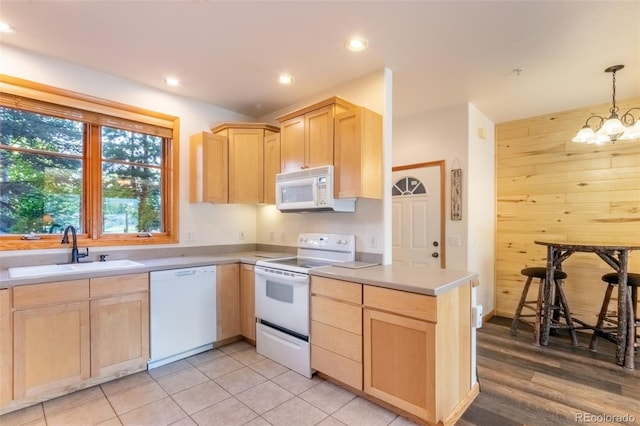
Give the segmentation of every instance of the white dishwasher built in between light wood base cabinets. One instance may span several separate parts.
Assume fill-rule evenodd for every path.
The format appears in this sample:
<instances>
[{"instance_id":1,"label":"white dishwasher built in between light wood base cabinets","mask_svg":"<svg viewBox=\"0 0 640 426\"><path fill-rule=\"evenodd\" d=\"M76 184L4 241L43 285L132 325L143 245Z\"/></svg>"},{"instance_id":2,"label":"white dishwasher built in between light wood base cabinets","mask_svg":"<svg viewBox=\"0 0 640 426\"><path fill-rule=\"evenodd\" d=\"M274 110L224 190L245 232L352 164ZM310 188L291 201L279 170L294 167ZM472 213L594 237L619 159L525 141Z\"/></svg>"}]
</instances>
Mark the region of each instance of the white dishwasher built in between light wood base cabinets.
<instances>
[{"instance_id":1,"label":"white dishwasher built in between light wood base cabinets","mask_svg":"<svg viewBox=\"0 0 640 426\"><path fill-rule=\"evenodd\" d=\"M150 273L151 359L147 368L204 352L216 340L216 267Z\"/></svg>"}]
</instances>

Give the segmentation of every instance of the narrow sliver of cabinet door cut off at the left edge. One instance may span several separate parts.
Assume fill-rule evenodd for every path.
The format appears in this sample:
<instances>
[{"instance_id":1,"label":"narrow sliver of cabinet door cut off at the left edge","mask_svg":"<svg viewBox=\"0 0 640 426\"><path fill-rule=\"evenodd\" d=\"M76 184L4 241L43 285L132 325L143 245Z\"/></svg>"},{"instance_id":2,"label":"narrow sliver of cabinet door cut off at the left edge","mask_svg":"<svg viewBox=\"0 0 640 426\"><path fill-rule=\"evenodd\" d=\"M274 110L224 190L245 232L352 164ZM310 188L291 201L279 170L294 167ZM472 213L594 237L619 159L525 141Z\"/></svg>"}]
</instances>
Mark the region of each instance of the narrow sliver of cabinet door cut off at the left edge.
<instances>
[{"instance_id":1,"label":"narrow sliver of cabinet door cut off at the left edge","mask_svg":"<svg viewBox=\"0 0 640 426\"><path fill-rule=\"evenodd\" d=\"M13 399L13 322L10 294L10 289L0 289L0 408Z\"/></svg>"}]
</instances>

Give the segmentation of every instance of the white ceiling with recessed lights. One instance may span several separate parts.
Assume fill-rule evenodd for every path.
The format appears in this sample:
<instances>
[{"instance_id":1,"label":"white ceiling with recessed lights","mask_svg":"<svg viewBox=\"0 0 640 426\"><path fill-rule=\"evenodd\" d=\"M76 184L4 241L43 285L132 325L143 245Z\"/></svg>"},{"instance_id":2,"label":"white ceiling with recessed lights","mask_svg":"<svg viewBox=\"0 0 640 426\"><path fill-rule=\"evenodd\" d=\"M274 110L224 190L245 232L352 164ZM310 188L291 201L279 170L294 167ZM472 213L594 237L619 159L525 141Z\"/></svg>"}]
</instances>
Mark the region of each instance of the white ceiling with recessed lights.
<instances>
[{"instance_id":1,"label":"white ceiling with recessed lights","mask_svg":"<svg viewBox=\"0 0 640 426\"><path fill-rule=\"evenodd\" d=\"M0 20L16 29L2 44L254 117L384 67L395 117L472 102L500 123L606 103L614 64L617 98L640 96L640 1L2 0ZM367 51L345 49L354 35Z\"/></svg>"}]
</instances>

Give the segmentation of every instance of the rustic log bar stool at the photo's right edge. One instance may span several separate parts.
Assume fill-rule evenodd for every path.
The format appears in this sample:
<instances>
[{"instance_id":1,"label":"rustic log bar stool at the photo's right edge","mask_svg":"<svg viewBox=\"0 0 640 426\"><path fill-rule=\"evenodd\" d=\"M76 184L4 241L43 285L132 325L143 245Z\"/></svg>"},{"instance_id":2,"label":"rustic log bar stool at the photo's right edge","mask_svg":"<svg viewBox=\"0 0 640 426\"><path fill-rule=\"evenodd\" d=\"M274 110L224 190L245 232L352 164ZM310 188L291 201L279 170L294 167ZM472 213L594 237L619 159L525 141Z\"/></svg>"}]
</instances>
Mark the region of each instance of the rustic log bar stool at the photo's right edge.
<instances>
[{"instance_id":1,"label":"rustic log bar stool at the photo's right edge","mask_svg":"<svg viewBox=\"0 0 640 426\"><path fill-rule=\"evenodd\" d=\"M598 337L602 337L610 342L617 343L617 331L618 331L618 313L616 311L609 311L609 302L611 301L611 293L613 289L618 285L618 273L611 272L602 276L602 281L607 283L607 290L604 293L604 300L602 302L602 308L600 308L600 314L598 315L598 322L593 329L593 336L591 336L591 342L589 343L589 350L597 351ZM638 328L640 327L640 318L637 312L638 306L638 287L640 287L640 274L627 273L627 290L631 291L631 301L634 312L634 325L635 333L633 344L638 346Z\"/></svg>"}]
</instances>

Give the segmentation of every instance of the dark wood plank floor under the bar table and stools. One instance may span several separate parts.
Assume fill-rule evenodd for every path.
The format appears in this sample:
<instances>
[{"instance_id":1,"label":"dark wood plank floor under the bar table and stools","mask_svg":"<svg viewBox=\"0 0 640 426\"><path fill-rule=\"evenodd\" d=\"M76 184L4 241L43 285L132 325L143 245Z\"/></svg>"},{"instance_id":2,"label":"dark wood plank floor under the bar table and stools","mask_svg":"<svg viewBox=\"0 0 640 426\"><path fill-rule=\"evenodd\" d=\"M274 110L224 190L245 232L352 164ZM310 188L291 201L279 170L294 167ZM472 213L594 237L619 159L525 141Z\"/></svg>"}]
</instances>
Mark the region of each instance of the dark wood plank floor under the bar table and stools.
<instances>
[{"instance_id":1,"label":"dark wood plank floor under the bar table and stools","mask_svg":"<svg viewBox=\"0 0 640 426\"><path fill-rule=\"evenodd\" d=\"M458 425L640 424L637 353L636 370L623 369L613 343L601 339L599 352L589 351L590 334L579 333L579 348L565 334L536 347L530 327L514 336L510 325L494 318L478 330L480 395Z\"/></svg>"}]
</instances>

